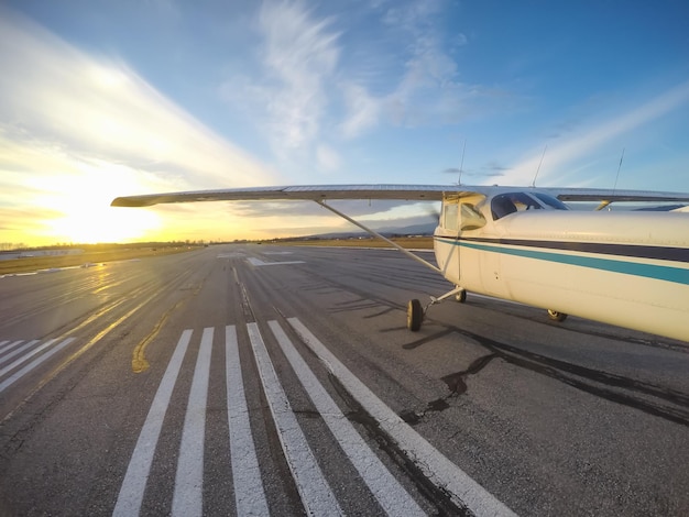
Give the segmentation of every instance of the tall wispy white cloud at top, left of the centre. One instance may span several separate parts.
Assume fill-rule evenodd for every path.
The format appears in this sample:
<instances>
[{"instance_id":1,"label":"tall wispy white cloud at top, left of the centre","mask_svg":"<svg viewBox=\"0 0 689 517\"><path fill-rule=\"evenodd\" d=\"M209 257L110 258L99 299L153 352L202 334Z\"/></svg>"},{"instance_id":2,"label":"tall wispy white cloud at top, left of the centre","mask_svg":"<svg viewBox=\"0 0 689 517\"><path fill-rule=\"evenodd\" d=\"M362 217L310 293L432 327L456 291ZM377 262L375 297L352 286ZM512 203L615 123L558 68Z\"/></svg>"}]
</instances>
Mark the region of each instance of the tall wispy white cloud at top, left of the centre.
<instances>
[{"instance_id":1,"label":"tall wispy white cloud at top, left of the centre","mask_svg":"<svg viewBox=\"0 0 689 517\"><path fill-rule=\"evenodd\" d=\"M264 2L256 31L259 75L233 75L221 91L237 106L250 103L274 153L286 160L309 151L319 136L328 81L340 54L339 33L332 20L318 19L304 2L292 1Z\"/></svg>"}]
</instances>

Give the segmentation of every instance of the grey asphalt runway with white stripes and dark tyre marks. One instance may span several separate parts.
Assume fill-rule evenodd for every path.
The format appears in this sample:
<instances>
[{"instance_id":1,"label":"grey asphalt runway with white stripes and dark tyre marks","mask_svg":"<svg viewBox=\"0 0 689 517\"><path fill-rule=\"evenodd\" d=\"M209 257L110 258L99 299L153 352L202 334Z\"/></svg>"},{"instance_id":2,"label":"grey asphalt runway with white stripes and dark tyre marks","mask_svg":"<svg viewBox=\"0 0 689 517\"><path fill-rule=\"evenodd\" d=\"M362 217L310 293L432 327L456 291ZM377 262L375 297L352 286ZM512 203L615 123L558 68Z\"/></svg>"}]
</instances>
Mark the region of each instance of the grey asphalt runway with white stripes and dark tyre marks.
<instances>
[{"instance_id":1,"label":"grey asphalt runway with white stripes and dark tyre marks","mask_svg":"<svg viewBox=\"0 0 689 517\"><path fill-rule=\"evenodd\" d=\"M424 253L426 258L431 253ZM687 515L689 344L390 250L0 278L0 515Z\"/></svg>"}]
</instances>

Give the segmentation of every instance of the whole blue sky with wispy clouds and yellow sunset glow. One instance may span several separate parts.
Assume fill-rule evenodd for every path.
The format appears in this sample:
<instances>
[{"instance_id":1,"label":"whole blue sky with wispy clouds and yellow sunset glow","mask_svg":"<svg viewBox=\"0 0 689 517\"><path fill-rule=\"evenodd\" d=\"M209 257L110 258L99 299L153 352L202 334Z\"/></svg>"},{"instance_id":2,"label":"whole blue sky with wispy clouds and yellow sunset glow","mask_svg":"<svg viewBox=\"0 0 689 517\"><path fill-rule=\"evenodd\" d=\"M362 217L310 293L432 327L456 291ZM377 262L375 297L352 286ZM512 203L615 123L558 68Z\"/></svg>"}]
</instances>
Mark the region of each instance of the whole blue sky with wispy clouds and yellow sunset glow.
<instances>
[{"instance_id":1,"label":"whole blue sky with wispy clouds and yellow sunset glow","mask_svg":"<svg viewBox=\"0 0 689 517\"><path fill-rule=\"evenodd\" d=\"M686 0L3 0L0 249L351 228L315 204L109 206L160 191L538 172L687 193L687 20Z\"/></svg>"}]
</instances>

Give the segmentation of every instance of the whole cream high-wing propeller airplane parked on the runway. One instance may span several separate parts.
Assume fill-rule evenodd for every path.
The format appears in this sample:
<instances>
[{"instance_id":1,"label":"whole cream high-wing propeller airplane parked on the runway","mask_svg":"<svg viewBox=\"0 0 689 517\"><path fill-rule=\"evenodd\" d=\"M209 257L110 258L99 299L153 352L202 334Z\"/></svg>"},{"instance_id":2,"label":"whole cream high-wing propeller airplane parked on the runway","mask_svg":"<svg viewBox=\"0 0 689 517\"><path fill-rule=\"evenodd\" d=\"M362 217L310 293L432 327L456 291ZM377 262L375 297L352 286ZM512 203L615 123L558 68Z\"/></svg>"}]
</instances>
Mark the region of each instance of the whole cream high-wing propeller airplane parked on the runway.
<instances>
[{"instance_id":1,"label":"whole cream high-wing propeller airplane parked on the runway","mask_svg":"<svg viewBox=\"0 0 689 517\"><path fill-rule=\"evenodd\" d=\"M407 305L419 330L428 308L467 292L689 341L689 215L609 211L611 202L688 202L689 194L580 188L332 185L227 188L118 197L114 207L220 200L310 200L383 239L455 288ZM442 201L434 248L438 266L337 210L337 199ZM564 201L599 201L570 210Z\"/></svg>"}]
</instances>

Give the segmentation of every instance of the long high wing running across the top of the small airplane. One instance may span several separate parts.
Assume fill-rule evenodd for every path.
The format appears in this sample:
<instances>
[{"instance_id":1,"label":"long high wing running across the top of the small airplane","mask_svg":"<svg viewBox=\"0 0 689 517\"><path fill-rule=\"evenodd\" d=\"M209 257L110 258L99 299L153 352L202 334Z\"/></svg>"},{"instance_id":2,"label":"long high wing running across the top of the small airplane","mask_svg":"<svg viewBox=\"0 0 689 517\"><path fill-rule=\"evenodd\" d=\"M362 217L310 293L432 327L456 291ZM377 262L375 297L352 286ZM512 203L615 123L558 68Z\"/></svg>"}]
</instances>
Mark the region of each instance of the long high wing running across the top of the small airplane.
<instances>
[{"instance_id":1,"label":"long high wing running across the top of the small airplane","mask_svg":"<svg viewBox=\"0 0 689 517\"><path fill-rule=\"evenodd\" d=\"M330 199L397 199L408 201L439 201L446 194L453 196L537 190L550 194L561 201L672 201L689 202L686 193L654 193L644 190L613 190L599 188L534 188L503 186L457 185L296 185L282 187L242 187L218 190L195 190L167 194L124 196L112 200L113 207L150 207L168 202L239 201L239 200L311 200Z\"/></svg>"}]
</instances>

